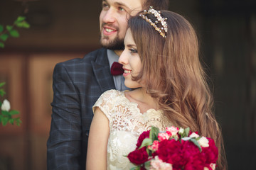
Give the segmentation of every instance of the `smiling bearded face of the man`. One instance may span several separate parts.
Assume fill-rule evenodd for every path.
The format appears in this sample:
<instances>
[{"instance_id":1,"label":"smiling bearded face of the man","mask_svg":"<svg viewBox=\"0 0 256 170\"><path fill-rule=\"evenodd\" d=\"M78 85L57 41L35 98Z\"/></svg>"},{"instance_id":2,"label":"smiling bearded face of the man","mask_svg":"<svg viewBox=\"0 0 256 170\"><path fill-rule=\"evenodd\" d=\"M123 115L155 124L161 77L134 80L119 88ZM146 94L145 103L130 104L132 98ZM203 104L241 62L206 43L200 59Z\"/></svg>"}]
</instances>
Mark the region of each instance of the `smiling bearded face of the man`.
<instances>
[{"instance_id":1,"label":"smiling bearded face of the man","mask_svg":"<svg viewBox=\"0 0 256 170\"><path fill-rule=\"evenodd\" d=\"M141 10L142 0L103 0L100 13L100 44L110 50L124 50L129 16Z\"/></svg>"}]
</instances>

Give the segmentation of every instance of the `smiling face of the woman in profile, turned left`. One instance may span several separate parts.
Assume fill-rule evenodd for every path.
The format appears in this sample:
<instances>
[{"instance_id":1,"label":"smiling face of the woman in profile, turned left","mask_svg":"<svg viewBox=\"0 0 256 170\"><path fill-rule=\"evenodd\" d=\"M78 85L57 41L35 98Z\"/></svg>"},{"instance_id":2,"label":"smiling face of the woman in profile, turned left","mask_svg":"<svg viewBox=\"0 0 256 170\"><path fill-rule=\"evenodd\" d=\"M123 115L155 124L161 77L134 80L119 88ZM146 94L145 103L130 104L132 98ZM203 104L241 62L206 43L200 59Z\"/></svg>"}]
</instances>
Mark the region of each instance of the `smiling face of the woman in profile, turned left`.
<instances>
[{"instance_id":1,"label":"smiling face of the woman in profile, turned left","mask_svg":"<svg viewBox=\"0 0 256 170\"><path fill-rule=\"evenodd\" d=\"M127 30L125 35L124 51L122 52L122 55L120 55L118 62L123 65L125 86L132 89L141 87L141 84L132 80L132 77L136 77L142 69L142 61L138 55L137 45L132 38L132 32L130 29Z\"/></svg>"}]
</instances>

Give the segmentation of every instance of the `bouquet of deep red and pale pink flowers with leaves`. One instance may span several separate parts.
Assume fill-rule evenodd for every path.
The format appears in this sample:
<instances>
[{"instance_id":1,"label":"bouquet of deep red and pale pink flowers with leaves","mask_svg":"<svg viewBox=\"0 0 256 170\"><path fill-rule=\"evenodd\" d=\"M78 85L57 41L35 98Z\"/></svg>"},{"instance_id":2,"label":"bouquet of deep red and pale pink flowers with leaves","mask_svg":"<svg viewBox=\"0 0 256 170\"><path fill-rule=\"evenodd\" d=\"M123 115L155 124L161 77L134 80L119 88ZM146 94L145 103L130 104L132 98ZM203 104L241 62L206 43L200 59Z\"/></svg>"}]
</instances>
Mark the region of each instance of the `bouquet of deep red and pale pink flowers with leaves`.
<instances>
[{"instance_id":1,"label":"bouquet of deep red and pale pink flowers with leaves","mask_svg":"<svg viewBox=\"0 0 256 170\"><path fill-rule=\"evenodd\" d=\"M218 148L213 139L199 136L189 128L152 127L139 136L137 148L128 154L136 167L131 170L214 170Z\"/></svg>"}]
</instances>

